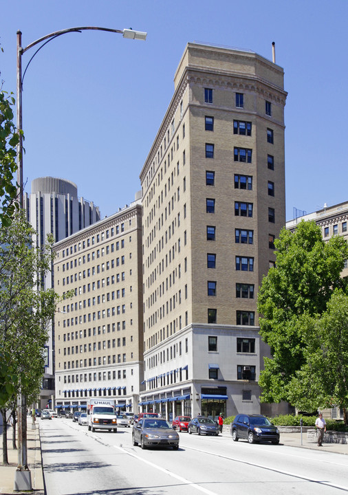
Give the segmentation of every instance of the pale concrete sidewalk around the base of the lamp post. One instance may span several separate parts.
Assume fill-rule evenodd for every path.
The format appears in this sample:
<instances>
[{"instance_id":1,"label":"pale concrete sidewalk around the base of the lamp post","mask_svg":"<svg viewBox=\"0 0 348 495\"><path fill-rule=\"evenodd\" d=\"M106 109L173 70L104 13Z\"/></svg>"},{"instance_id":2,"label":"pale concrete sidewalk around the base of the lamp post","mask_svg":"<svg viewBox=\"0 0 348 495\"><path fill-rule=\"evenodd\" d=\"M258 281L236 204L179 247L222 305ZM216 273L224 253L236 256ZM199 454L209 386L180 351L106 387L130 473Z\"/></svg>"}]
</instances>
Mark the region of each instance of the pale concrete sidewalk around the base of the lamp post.
<instances>
[{"instance_id":1,"label":"pale concrete sidewalk around the base of the lamp post","mask_svg":"<svg viewBox=\"0 0 348 495\"><path fill-rule=\"evenodd\" d=\"M3 465L2 441L0 442L0 494L28 494L44 495L43 470L41 465L41 445L39 435L39 425L32 430L32 424L28 420L27 442L28 442L28 466L32 476L32 492L14 492L14 474L18 463L18 450L12 448L12 428L8 428L8 465ZM18 442L17 442L18 447Z\"/></svg>"}]
</instances>

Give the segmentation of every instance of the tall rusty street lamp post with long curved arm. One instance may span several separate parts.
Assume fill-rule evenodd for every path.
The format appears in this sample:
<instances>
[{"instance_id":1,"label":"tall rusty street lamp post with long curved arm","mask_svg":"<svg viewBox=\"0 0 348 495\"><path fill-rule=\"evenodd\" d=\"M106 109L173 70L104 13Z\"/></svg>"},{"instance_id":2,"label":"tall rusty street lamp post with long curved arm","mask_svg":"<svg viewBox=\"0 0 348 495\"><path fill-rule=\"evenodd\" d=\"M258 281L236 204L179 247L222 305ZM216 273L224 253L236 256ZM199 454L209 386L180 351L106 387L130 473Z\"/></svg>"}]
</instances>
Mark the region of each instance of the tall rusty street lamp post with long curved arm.
<instances>
[{"instance_id":1,"label":"tall rusty street lamp post with long curved arm","mask_svg":"<svg viewBox=\"0 0 348 495\"><path fill-rule=\"evenodd\" d=\"M22 33L17 31L17 131L22 130L22 91L23 91L23 78L25 72L30 65L30 62L34 56L45 46L49 41L61 36L62 34L67 34L69 32L82 32L86 30L95 31L107 31L112 33L122 34L124 38L127 39L137 39L146 40L146 32L135 31L132 29L115 30L109 28L98 28L94 26L83 26L80 28L68 28L66 30L56 31L51 34L47 34L42 38L33 41L30 45L22 47ZM30 50L30 48L42 43L41 46L36 50L27 66L25 67L24 74L22 76L22 55ZM19 143L17 144L17 195L19 201L19 207L23 208L23 139L21 133L19 133ZM14 490L31 490L32 480L30 470L28 468L28 457L27 457L27 406L26 397L20 391L18 399L18 465L16 474L14 477Z\"/></svg>"}]
</instances>

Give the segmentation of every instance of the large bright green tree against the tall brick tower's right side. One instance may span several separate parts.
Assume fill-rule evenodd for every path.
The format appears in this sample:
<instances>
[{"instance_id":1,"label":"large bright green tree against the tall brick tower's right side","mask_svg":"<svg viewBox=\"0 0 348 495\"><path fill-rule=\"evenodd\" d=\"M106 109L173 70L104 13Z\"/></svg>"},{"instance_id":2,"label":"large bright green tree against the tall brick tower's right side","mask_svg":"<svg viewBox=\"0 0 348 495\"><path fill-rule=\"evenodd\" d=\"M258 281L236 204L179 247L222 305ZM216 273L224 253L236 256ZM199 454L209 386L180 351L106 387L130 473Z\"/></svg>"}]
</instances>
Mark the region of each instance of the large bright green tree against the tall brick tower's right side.
<instances>
[{"instance_id":1,"label":"large bright green tree against the tall brick tower's right side","mask_svg":"<svg viewBox=\"0 0 348 495\"><path fill-rule=\"evenodd\" d=\"M294 233L283 228L274 245L276 266L263 277L258 298L260 333L272 353L260 373L264 402L289 401L289 384L306 362L303 319L322 314L334 289L347 293L342 237L325 242L314 221L301 221Z\"/></svg>"}]
</instances>

